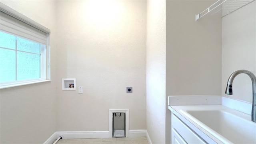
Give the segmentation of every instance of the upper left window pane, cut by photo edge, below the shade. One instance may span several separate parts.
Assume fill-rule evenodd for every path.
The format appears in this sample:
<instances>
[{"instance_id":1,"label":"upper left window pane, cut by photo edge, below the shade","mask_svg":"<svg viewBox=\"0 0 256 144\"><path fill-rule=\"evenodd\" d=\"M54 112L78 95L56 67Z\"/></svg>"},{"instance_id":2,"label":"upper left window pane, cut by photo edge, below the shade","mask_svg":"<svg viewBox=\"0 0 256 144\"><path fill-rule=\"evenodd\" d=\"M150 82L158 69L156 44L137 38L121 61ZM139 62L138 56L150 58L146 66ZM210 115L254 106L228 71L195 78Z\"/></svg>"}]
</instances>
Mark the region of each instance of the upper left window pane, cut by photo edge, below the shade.
<instances>
[{"instance_id":1,"label":"upper left window pane, cut by photo edge, below the shade","mask_svg":"<svg viewBox=\"0 0 256 144\"><path fill-rule=\"evenodd\" d=\"M15 36L0 32L0 47L15 50Z\"/></svg>"}]
</instances>

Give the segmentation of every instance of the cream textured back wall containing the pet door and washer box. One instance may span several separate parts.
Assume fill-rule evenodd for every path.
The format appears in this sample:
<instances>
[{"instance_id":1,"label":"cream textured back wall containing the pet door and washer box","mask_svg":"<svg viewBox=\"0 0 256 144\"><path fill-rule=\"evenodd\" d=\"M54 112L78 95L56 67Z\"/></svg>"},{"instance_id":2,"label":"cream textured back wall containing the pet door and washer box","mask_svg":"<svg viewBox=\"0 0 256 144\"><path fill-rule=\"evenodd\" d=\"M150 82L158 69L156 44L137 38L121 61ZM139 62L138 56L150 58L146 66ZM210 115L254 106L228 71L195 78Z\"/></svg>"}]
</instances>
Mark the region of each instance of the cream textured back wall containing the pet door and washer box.
<instances>
[{"instance_id":1,"label":"cream textured back wall containing the pet door and washer box","mask_svg":"<svg viewBox=\"0 0 256 144\"><path fill-rule=\"evenodd\" d=\"M108 130L108 110L120 108L130 109L130 130L146 129L146 1L61 0L56 12L57 130ZM84 93L62 91L61 78Z\"/></svg>"}]
</instances>

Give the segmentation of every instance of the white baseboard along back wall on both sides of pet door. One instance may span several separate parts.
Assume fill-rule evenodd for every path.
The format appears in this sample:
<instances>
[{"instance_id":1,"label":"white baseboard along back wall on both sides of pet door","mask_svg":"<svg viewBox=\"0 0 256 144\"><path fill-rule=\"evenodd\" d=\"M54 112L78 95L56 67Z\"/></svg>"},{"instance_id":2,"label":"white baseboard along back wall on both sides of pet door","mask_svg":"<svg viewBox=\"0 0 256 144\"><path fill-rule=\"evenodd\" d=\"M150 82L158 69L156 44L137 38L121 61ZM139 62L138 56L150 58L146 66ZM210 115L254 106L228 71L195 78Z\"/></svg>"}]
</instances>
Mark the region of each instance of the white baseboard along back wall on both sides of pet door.
<instances>
[{"instance_id":1,"label":"white baseboard along back wall on both sides of pet door","mask_svg":"<svg viewBox=\"0 0 256 144\"><path fill-rule=\"evenodd\" d=\"M144 137L147 136L146 130L129 130L129 137ZM64 131L55 132L44 142L44 144L52 144L59 136L63 139L80 139L80 138L109 138L109 131Z\"/></svg>"}]
</instances>

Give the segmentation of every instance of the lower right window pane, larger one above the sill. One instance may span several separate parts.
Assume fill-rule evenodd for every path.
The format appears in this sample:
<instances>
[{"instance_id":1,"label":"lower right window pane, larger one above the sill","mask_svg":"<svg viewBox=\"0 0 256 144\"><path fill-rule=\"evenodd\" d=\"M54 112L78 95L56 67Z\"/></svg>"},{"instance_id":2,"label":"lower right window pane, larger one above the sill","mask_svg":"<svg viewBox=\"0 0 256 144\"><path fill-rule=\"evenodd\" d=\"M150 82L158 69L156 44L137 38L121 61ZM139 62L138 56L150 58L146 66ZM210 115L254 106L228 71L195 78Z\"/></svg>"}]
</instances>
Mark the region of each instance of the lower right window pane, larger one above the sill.
<instances>
[{"instance_id":1,"label":"lower right window pane, larger one above the sill","mask_svg":"<svg viewBox=\"0 0 256 144\"><path fill-rule=\"evenodd\" d=\"M17 80L40 78L40 55L17 52Z\"/></svg>"}]
</instances>

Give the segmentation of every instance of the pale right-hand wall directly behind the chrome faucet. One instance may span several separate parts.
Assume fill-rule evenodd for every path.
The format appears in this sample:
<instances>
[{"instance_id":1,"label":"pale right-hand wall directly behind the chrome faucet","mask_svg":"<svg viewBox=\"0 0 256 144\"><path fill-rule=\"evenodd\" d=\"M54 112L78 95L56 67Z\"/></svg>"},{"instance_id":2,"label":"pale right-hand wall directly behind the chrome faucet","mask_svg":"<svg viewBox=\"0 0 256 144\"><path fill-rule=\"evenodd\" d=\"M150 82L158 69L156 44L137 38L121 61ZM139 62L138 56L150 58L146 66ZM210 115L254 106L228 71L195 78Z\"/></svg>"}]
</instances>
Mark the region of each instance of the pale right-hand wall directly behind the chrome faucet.
<instances>
[{"instance_id":1,"label":"pale right-hand wall directly behind the chrome faucet","mask_svg":"<svg viewBox=\"0 0 256 144\"><path fill-rule=\"evenodd\" d=\"M222 96L252 103L252 81L239 74L233 95L225 94L228 77L236 70L256 74L256 2L222 18Z\"/></svg>"}]
</instances>

